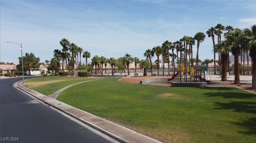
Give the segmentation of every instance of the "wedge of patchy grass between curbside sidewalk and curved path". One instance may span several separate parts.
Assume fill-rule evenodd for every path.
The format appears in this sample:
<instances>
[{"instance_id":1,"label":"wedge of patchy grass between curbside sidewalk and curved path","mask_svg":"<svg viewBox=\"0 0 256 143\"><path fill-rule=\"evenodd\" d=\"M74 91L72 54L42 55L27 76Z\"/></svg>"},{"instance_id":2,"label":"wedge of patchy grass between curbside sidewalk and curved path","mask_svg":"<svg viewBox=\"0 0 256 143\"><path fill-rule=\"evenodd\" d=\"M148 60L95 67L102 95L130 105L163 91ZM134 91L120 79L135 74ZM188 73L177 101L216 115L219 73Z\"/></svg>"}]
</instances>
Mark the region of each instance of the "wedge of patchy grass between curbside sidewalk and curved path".
<instances>
[{"instance_id":1,"label":"wedge of patchy grass between curbside sidewalk and curved path","mask_svg":"<svg viewBox=\"0 0 256 143\"><path fill-rule=\"evenodd\" d=\"M29 83L30 89L36 90L44 95L50 95L57 90L64 88L68 85L93 80L98 78L92 77L66 77L66 76L46 76L40 78L32 78L26 81L25 86Z\"/></svg>"}]
</instances>

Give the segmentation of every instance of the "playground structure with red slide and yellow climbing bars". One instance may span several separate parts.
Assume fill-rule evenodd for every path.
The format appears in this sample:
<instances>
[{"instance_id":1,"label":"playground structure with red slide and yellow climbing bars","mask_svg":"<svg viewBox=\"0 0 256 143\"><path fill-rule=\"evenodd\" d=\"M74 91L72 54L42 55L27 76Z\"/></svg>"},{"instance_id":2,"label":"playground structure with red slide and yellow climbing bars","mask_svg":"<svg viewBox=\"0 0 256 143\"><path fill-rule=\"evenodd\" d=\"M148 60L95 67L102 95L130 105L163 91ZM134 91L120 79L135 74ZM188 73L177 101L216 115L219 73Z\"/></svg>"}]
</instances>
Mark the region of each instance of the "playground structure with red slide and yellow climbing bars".
<instances>
[{"instance_id":1,"label":"playground structure with red slide and yellow climbing bars","mask_svg":"<svg viewBox=\"0 0 256 143\"><path fill-rule=\"evenodd\" d=\"M180 82L210 82L209 80L206 80L205 78L205 72L202 77L202 71L201 69L197 69L196 66L191 67L190 65L187 66L187 64L179 64L178 71L176 74L174 74L171 78L168 79L168 81L173 80L176 76L180 75ZM182 75L184 75L184 79L182 78ZM189 81L188 81L188 75L189 75ZM183 81L182 81L183 80Z\"/></svg>"}]
</instances>

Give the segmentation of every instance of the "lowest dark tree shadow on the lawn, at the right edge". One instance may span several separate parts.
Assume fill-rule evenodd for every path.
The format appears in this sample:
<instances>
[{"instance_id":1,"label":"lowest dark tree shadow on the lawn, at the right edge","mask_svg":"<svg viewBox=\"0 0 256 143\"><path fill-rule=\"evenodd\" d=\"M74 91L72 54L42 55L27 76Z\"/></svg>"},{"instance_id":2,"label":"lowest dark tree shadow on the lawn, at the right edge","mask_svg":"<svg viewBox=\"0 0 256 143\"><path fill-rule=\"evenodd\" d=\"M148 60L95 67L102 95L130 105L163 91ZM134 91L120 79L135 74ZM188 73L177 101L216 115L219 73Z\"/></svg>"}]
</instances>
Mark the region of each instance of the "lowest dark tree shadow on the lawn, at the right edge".
<instances>
[{"instance_id":1,"label":"lowest dark tree shadow on the lawn, at the right edge","mask_svg":"<svg viewBox=\"0 0 256 143\"><path fill-rule=\"evenodd\" d=\"M245 135L256 135L256 118L248 118L242 123L232 122L234 125L245 127L248 131L241 131Z\"/></svg>"}]
</instances>

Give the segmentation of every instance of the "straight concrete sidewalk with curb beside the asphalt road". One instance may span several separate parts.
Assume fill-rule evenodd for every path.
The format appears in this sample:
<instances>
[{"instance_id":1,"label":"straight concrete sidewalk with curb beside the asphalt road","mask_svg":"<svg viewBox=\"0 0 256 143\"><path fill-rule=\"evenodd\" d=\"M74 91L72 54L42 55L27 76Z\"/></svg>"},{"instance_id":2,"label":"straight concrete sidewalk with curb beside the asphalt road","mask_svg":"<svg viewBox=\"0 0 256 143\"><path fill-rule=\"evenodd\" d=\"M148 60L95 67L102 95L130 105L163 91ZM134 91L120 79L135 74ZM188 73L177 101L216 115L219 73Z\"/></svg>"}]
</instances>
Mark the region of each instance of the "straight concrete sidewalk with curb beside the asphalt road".
<instances>
[{"instance_id":1,"label":"straight concrete sidewalk with curb beside the asphalt road","mask_svg":"<svg viewBox=\"0 0 256 143\"><path fill-rule=\"evenodd\" d=\"M49 106L52 106L68 114L69 116L72 116L73 118L82 121L90 127L101 131L102 133L112 137L113 139L116 139L117 141L120 141L122 143L161 143L160 141L147 137L146 135L142 135L136 131L132 131L131 129L108 121L106 119L94 116L88 112L82 111L78 108L75 108L53 98L45 96L39 92L26 88L21 83L22 81L15 82L13 86L22 90L23 92L34 96L38 100L43 101Z\"/></svg>"}]
</instances>

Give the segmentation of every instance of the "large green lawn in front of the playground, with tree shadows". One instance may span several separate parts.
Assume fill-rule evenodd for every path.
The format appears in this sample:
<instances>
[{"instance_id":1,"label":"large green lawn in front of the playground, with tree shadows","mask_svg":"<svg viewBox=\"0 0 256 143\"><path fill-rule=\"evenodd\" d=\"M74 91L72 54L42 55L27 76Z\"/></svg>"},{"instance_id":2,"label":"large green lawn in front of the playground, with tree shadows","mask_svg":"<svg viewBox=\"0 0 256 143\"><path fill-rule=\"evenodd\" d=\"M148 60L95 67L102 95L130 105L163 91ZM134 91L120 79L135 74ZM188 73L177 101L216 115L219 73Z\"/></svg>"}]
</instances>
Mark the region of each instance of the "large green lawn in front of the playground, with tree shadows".
<instances>
[{"instance_id":1,"label":"large green lawn in front of the playground, with tree shadows","mask_svg":"<svg viewBox=\"0 0 256 143\"><path fill-rule=\"evenodd\" d=\"M164 142L256 141L256 94L232 87L154 87L118 79L72 86L57 100Z\"/></svg>"}]
</instances>

